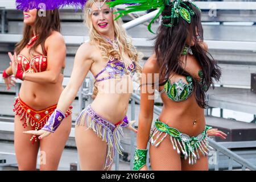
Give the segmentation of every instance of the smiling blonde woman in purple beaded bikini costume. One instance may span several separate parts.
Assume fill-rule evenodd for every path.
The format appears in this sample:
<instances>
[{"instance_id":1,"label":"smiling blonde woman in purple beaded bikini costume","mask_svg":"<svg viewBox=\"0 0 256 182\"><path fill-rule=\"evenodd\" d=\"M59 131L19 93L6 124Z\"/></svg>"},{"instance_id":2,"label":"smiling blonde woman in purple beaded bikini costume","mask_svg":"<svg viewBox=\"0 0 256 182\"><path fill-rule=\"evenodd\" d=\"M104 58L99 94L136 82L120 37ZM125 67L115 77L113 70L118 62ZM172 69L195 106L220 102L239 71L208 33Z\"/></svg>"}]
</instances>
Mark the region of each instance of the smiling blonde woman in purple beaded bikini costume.
<instances>
[{"instance_id":1,"label":"smiling blonde woman in purple beaded bikini costume","mask_svg":"<svg viewBox=\"0 0 256 182\"><path fill-rule=\"evenodd\" d=\"M136 132L126 113L133 92L132 77L141 72L140 56L122 28L122 20L114 21L116 10L106 2L110 1L86 2L85 22L90 40L76 53L71 80L61 93L57 109L42 130L32 132L39 138L53 133L65 118L63 111L72 104L82 81L92 72L94 101L82 110L75 128L82 170L109 169L115 153L122 154L122 128Z\"/></svg>"}]
</instances>

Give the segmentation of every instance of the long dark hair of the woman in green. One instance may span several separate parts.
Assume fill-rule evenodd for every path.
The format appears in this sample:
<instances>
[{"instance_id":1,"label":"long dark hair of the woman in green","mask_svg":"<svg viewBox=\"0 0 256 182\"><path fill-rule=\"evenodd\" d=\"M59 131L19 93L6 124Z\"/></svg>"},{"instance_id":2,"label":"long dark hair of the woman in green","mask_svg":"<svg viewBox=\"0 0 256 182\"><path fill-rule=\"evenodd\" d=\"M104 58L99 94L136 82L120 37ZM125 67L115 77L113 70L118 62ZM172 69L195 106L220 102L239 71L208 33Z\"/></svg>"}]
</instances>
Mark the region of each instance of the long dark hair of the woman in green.
<instances>
[{"instance_id":1,"label":"long dark hair of the woman in green","mask_svg":"<svg viewBox=\"0 0 256 182\"><path fill-rule=\"evenodd\" d=\"M215 80L220 80L221 71L218 67L216 61L213 57L205 51L200 46L200 42L203 42L203 27L201 24L201 12L195 6L191 5L189 2L184 2L187 6L189 6L193 11L195 11L195 15L191 16L191 23L186 22L181 16L179 17L179 21L176 21L176 25L172 27L163 26L163 24L158 29L158 35L155 40L155 53L157 57L157 64L160 69L160 79L159 85L162 86L166 84L170 76L173 76L175 73L177 75L183 76L191 76L187 71L185 71L181 67L181 52L185 47L185 43L187 38L192 41L193 38L196 38L196 28L197 32L200 36L200 40L195 41L195 46L192 46L192 52L198 61L199 65L203 69L203 85L193 78L193 86L195 90L195 97L197 104L205 108L207 107L205 92L208 90L210 85L213 85L213 78ZM181 4L181 6L184 6ZM163 16L171 16L171 6L166 6L163 10ZM186 8L186 7L184 7ZM170 23L170 19L163 19L164 24ZM194 39L195 40L195 39ZM187 61L187 58L186 58ZM205 89L206 88L206 89Z\"/></svg>"}]
</instances>

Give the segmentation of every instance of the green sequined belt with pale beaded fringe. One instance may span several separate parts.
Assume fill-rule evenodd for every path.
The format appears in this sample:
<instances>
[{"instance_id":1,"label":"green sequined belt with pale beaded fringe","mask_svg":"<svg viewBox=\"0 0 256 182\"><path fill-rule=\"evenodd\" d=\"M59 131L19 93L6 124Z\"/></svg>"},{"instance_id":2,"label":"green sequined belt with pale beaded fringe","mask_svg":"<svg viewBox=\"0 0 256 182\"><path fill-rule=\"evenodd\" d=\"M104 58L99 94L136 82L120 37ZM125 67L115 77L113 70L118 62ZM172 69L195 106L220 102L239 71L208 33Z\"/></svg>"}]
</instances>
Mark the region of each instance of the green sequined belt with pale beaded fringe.
<instances>
[{"instance_id":1,"label":"green sequined belt with pale beaded fringe","mask_svg":"<svg viewBox=\"0 0 256 182\"><path fill-rule=\"evenodd\" d=\"M156 119L155 125L151 129L150 142L152 146L158 147L163 139L166 138L167 135L170 135L174 150L177 150L178 154L181 154L181 150L182 154L184 155L184 159L187 160L188 158L188 163L193 165L196 164L197 159L200 159L199 151L204 156L207 156L209 149L213 149L209 146L207 139L207 130L209 129L211 129L211 127L206 126L203 133L197 135L197 137L189 137L187 134L180 133L179 130L170 127ZM162 138L160 138L161 136Z\"/></svg>"}]
</instances>

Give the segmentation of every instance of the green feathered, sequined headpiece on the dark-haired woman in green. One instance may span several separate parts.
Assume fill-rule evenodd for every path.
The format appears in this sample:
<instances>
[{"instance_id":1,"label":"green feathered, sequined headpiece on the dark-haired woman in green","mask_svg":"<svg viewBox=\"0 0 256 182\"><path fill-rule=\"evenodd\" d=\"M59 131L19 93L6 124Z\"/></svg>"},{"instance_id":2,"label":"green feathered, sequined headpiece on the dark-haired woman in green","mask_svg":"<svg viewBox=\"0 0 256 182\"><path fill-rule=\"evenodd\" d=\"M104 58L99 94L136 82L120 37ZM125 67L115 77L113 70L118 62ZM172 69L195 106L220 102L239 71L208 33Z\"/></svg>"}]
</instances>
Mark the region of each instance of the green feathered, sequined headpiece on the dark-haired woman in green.
<instances>
[{"instance_id":1,"label":"green feathered, sequined headpiece on the dark-haired woman in green","mask_svg":"<svg viewBox=\"0 0 256 182\"><path fill-rule=\"evenodd\" d=\"M179 17L181 16L188 23L191 22L191 16L195 15L195 11L193 11L189 6L187 6L184 2L189 2L193 6L197 7L191 0L115 0L112 2L108 2L107 4L110 7L114 7L117 5L127 5L126 10L120 10L115 13L119 13L116 19L125 16L126 14L137 12L137 11L147 11L151 9L159 9L156 16L151 20L150 24L148 24L148 30L154 34L151 30L151 24L158 18L158 16L162 13L166 6L171 6L171 15L163 16L162 19L170 19L170 23L163 24L163 26L172 27L175 26L175 22L179 22ZM200 9L199 9L200 10Z\"/></svg>"}]
</instances>

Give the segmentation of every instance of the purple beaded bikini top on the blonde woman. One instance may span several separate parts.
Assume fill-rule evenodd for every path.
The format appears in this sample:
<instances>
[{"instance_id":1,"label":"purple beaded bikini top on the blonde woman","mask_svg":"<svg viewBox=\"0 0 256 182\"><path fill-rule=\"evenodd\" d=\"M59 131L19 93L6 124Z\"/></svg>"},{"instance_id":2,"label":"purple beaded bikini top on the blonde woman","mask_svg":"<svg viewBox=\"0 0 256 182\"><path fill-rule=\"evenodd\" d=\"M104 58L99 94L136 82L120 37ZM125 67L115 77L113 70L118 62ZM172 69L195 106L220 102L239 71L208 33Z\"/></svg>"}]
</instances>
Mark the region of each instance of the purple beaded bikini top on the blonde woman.
<instances>
[{"instance_id":1,"label":"purple beaded bikini top on the blonde woman","mask_svg":"<svg viewBox=\"0 0 256 182\"><path fill-rule=\"evenodd\" d=\"M97 77L100 76L101 73L103 73L104 71L107 71L109 73L109 76L105 78L100 78L97 80ZM114 57L109 57L108 64L104 69L102 69L102 71L100 71L100 73L96 75L95 80L96 82L99 82L99 81L108 80L111 78L121 78L123 75L129 74L128 71L131 73L131 76L134 75L135 73L134 61L129 65L128 68L126 68L125 63L117 59L114 59Z\"/></svg>"}]
</instances>

